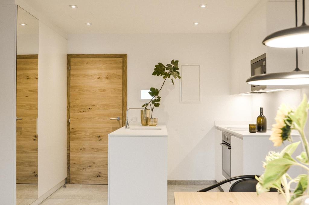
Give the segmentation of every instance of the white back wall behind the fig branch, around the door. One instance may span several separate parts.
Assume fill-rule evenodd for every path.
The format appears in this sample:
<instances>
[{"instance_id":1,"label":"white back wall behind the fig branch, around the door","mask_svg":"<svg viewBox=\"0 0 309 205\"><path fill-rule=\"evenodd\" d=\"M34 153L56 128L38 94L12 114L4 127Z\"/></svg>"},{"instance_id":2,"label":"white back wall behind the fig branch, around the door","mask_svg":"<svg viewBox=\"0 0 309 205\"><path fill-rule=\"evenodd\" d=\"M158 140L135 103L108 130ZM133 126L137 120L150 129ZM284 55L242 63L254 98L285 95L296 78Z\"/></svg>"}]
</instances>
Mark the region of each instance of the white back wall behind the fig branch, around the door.
<instances>
[{"instance_id":1,"label":"white back wall behind the fig branch, around the door","mask_svg":"<svg viewBox=\"0 0 309 205\"><path fill-rule=\"evenodd\" d=\"M151 75L158 62L201 66L200 104L181 104L179 80L175 87L168 81L154 111L169 133L169 180L213 180L214 121L251 119L251 97L229 96L229 34L71 34L68 53L127 53L128 108L145 103L141 89L163 82ZM139 115L131 111L129 118Z\"/></svg>"}]
</instances>

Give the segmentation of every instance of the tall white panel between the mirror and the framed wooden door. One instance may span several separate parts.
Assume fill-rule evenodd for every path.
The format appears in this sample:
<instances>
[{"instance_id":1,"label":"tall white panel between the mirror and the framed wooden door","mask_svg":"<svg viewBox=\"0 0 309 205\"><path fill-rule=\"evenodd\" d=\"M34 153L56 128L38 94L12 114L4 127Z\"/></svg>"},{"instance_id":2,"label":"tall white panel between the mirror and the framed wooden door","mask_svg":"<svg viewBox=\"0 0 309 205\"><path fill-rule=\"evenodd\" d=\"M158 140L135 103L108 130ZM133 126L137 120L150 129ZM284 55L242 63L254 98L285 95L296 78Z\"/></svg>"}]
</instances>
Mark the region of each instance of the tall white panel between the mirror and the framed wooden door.
<instances>
[{"instance_id":1,"label":"tall white panel between the mirror and the framed wooden door","mask_svg":"<svg viewBox=\"0 0 309 205\"><path fill-rule=\"evenodd\" d=\"M66 178L67 41L39 22L39 197Z\"/></svg>"}]
</instances>

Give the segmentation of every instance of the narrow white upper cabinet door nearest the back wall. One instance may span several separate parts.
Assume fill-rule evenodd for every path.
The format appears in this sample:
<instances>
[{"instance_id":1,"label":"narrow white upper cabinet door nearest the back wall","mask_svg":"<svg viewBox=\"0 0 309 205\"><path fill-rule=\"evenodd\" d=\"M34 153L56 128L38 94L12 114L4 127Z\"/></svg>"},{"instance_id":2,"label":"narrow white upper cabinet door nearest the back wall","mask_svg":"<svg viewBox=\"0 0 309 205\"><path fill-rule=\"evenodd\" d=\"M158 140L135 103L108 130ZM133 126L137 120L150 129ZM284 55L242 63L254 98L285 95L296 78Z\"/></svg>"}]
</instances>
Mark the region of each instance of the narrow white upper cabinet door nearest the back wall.
<instances>
[{"instance_id":1,"label":"narrow white upper cabinet door nearest the back wall","mask_svg":"<svg viewBox=\"0 0 309 205\"><path fill-rule=\"evenodd\" d=\"M239 42L238 28L230 33L230 94L239 93Z\"/></svg>"}]
</instances>

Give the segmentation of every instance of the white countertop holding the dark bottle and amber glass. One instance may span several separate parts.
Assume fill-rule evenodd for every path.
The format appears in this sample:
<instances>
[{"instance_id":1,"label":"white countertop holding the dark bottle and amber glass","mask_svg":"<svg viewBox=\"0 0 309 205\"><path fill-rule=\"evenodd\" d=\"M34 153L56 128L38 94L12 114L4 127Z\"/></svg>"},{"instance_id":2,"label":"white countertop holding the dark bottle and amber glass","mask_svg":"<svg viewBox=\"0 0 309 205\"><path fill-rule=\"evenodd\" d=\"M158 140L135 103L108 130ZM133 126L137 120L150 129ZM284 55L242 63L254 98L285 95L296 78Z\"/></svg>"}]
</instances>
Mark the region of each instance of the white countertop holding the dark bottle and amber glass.
<instances>
[{"instance_id":1,"label":"white countertop holding the dark bottle and amber glass","mask_svg":"<svg viewBox=\"0 0 309 205\"><path fill-rule=\"evenodd\" d=\"M238 131L238 130L231 130L228 129L227 127L243 127L247 128L247 131ZM270 135L273 133L272 130L267 130L267 132L256 132L256 133L250 133L249 132L249 125L215 125L215 128L217 130L221 130L223 132L227 132L233 136L236 137L270 137ZM299 137L300 135L297 134L296 132L292 132L291 134L292 137Z\"/></svg>"}]
</instances>

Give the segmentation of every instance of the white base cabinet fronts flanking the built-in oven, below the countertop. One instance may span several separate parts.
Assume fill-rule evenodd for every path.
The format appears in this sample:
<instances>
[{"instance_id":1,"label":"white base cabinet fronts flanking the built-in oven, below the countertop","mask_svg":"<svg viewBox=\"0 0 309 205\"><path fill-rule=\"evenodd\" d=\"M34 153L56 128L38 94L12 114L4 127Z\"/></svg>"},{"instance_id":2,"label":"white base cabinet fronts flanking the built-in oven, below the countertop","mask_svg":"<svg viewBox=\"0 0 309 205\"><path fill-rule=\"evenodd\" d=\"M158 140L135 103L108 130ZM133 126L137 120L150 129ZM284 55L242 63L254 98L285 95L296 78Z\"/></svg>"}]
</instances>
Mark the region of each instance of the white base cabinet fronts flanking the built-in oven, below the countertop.
<instances>
[{"instance_id":1,"label":"white base cabinet fronts flanking the built-in oven, below the countertop","mask_svg":"<svg viewBox=\"0 0 309 205\"><path fill-rule=\"evenodd\" d=\"M294 142L300 141L300 137L293 137ZM215 131L215 180L220 182L225 179L222 175L222 131ZM265 171L263 161L269 151L280 152L284 147L274 147L269 137L239 137L231 136L231 177L239 175L262 175ZM293 157L295 158L302 152L299 146ZM291 177L297 177L301 173L305 173L299 167L292 167L288 173ZM221 188L228 192L231 183L226 183Z\"/></svg>"}]
</instances>

